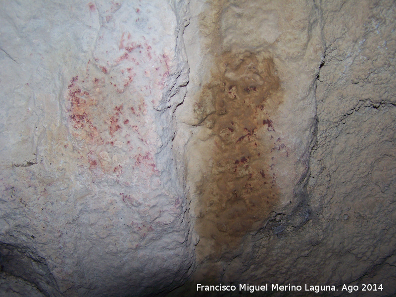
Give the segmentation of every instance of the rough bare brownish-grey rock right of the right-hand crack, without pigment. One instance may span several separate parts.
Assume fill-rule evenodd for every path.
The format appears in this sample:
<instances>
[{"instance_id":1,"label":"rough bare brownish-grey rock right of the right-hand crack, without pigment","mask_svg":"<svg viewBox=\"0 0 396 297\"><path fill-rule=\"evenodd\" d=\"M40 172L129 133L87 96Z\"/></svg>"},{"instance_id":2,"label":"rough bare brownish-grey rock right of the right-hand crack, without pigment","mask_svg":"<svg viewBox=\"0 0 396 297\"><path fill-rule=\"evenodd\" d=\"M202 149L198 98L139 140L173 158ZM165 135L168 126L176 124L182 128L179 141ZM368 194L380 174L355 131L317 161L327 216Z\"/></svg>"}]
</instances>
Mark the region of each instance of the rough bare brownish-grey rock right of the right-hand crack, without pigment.
<instances>
[{"instance_id":1,"label":"rough bare brownish-grey rock right of the right-hand crack, without pigment","mask_svg":"<svg viewBox=\"0 0 396 297\"><path fill-rule=\"evenodd\" d=\"M324 2L322 11L326 51L308 183L317 241L309 258L321 265L323 281L387 287L354 296L391 296L396 294L396 6L334 1Z\"/></svg>"}]
</instances>

